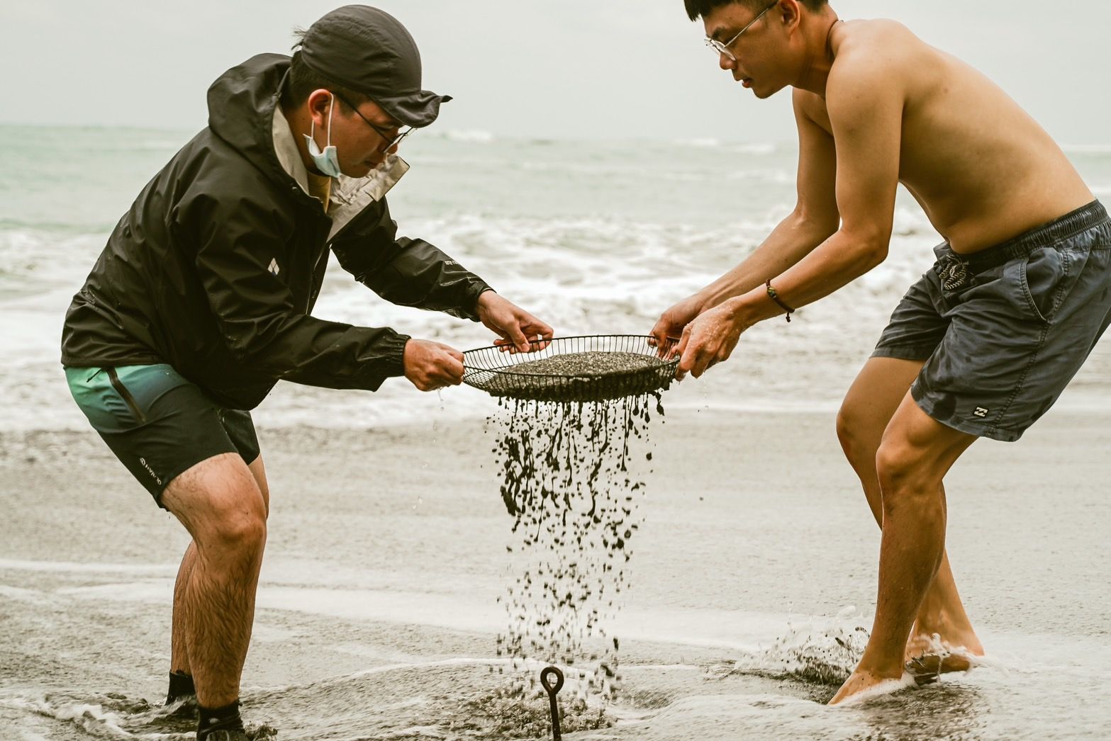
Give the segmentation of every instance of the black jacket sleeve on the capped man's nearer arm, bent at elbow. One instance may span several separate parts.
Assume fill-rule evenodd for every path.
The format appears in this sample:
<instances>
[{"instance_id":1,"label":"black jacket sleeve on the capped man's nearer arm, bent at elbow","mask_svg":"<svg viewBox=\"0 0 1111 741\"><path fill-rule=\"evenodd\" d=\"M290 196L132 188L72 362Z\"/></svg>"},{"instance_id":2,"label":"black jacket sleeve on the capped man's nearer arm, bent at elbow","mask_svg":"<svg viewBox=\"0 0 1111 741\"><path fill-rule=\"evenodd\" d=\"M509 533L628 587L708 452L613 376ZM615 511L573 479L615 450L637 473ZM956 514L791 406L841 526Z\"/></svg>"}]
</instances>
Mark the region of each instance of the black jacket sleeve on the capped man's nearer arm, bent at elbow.
<instances>
[{"instance_id":1,"label":"black jacket sleeve on the capped man's nearer arm, bent at elbow","mask_svg":"<svg viewBox=\"0 0 1111 741\"><path fill-rule=\"evenodd\" d=\"M293 305L288 286L268 270L290 248L292 226L280 209L240 195L199 196L190 211L197 272L237 359L276 378L328 388L377 390L404 373L407 335L318 319Z\"/></svg>"}]
</instances>

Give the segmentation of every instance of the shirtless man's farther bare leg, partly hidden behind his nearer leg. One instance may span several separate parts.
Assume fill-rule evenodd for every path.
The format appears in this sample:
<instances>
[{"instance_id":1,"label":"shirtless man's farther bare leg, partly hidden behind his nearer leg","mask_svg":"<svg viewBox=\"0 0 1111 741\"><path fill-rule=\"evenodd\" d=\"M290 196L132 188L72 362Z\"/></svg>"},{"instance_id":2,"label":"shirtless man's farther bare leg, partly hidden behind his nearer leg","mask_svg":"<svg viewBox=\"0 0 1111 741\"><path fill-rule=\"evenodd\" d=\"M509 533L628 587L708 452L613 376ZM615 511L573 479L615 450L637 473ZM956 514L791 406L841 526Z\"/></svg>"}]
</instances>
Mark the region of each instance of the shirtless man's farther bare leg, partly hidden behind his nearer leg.
<instances>
[{"instance_id":1,"label":"shirtless man's farther bare leg, partly hidden behind his nearer leg","mask_svg":"<svg viewBox=\"0 0 1111 741\"><path fill-rule=\"evenodd\" d=\"M853 382L838 415L838 437L860 478L877 524L881 524L883 519L883 498L875 470L875 455L883 430L921 367L921 361L885 357L870 359ZM944 506L944 488L941 489L941 496ZM944 552L938 573L922 600L904 659L910 661L924 657L927 667L938 671L963 671L969 668L968 660L959 656L944 659L925 657L937 640L949 648L963 648L973 654L983 653L983 647L961 603L949 557Z\"/></svg>"}]
</instances>

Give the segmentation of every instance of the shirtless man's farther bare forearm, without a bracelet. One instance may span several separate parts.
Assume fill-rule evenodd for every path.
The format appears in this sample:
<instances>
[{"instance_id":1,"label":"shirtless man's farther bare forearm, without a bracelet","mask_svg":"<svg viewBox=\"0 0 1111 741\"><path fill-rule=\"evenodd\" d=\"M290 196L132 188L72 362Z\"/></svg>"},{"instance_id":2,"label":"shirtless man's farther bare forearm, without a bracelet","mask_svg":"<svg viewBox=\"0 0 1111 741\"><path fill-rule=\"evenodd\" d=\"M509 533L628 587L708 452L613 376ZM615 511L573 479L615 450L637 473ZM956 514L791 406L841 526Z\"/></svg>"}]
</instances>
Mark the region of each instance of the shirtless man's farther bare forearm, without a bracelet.
<instances>
[{"instance_id":1,"label":"shirtless man's farther bare forearm, without a bracelet","mask_svg":"<svg viewBox=\"0 0 1111 741\"><path fill-rule=\"evenodd\" d=\"M702 311L764 285L765 281L799 263L829 235L827 227L808 220L798 211L792 212L740 265L698 293Z\"/></svg>"}]
</instances>

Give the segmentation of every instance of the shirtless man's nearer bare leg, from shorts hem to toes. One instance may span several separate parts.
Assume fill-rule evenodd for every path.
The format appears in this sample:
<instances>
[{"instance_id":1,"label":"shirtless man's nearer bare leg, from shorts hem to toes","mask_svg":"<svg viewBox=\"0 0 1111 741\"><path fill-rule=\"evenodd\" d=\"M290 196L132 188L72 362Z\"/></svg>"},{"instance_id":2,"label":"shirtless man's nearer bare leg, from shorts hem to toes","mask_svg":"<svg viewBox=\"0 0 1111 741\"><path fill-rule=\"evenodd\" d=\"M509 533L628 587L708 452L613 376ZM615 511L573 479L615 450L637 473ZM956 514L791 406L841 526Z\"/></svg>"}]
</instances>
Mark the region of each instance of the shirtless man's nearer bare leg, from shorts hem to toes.
<instances>
[{"instance_id":1,"label":"shirtless man's nearer bare leg, from shorts hem to toes","mask_svg":"<svg viewBox=\"0 0 1111 741\"><path fill-rule=\"evenodd\" d=\"M877 455L883 537L875 621L860 664L831 704L902 677L914 617L944 552L941 479L975 439L930 418L909 393L891 418Z\"/></svg>"}]
</instances>

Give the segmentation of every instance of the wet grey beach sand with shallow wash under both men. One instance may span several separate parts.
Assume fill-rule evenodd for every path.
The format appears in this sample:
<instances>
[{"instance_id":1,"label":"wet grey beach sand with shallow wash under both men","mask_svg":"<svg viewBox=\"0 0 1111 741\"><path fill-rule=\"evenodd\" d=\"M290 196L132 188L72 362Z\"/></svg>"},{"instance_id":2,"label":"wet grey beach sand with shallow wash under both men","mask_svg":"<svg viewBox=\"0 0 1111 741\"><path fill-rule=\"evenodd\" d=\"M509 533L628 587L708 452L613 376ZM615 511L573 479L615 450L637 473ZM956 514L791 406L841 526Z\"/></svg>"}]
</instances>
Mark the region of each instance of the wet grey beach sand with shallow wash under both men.
<instances>
[{"instance_id":1,"label":"wet grey beach sand with shallow wash under both men","mask_svg":"<svg viewBox=\"0 0 1111 741\"><path fill-rule=\"evenodd\" d=\"M588 708L564 738L1105 738L1109 423L1051 413L947 479L984 666L829 709L871 625L879 551L832 413L669 410L612 628L612 724L567 732ZM258 737L547 738L541 712L508 720L496 697L512 575L493 432L259 434L272 511L243 674ZM184 531L91 432L0 433L0 738L190 738L141 702L166 691Z\"/></svg>"}]
</instances>

